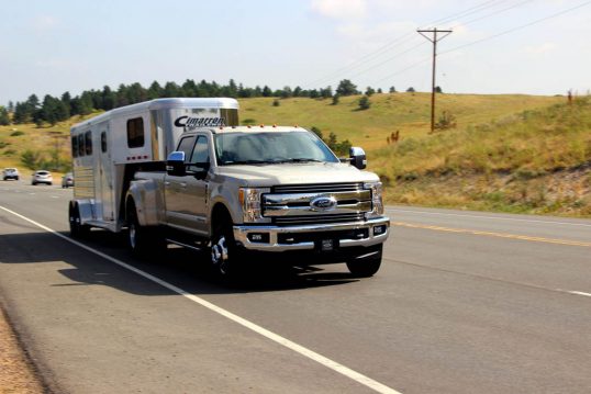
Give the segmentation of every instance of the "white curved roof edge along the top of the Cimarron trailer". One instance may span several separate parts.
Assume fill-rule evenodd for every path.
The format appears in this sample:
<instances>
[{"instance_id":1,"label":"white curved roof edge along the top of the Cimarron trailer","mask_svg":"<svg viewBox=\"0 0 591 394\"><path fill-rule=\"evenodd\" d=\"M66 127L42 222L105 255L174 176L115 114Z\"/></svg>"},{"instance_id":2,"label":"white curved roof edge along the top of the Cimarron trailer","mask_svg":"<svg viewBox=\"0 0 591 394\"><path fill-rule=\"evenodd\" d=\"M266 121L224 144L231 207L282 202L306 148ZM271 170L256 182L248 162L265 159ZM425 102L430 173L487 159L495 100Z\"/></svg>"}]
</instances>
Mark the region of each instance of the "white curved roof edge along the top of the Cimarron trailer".
<instances>
[{"instance_id":1,"label":"white curved roof edge along the top of the Cimarron trailer","mask_svg":"<svg viewBox=\"0 0 591 394\"><path fill-rule=\"evenodd\" d=\"M169 99L155 99L150 101L144 101L137 104L120 106L111 111L107 111L98 116L93 116L85 122L77 123L73 126L79 127L83 125L91 125L101 121L108 120L116 115L125 115L131 113L137 113L142 111L152 110L166 110L176 108L222 108L222 109L238 109L238 101L230 98L169 98Z\"/></svg>"}]
</instances>

